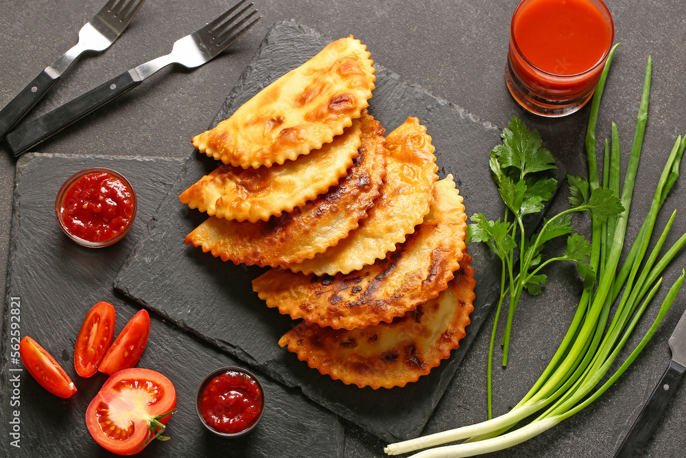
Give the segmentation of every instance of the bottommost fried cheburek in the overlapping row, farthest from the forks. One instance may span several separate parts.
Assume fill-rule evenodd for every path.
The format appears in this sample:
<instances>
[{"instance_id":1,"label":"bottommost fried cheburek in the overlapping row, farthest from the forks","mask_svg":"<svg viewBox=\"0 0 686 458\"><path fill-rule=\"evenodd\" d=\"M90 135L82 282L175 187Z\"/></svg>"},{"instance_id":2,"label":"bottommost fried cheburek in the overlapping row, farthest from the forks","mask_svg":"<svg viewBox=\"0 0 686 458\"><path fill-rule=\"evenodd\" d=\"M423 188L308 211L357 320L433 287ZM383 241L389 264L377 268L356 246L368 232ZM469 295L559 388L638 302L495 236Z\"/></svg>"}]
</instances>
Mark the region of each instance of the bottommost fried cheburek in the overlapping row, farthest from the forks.
<instances>
[{"instance_id":1,"label":"bottommost fried cheburek in the overlapping row, farthest from the forks","mask_svg":"<svg viewBox=\"0 0 686 458\"><path fill-rule=\"evenodd\" d=\"M404 387L429 374L460 346L474 310L474 269L464 254L460 270L437 299L364 329L334 330L303 321L279 345L334 380L358 387Z\"/></svg>"}]
</instances>

